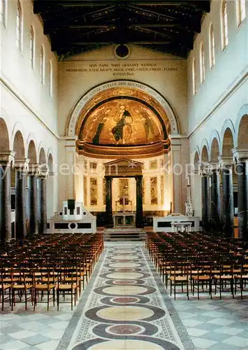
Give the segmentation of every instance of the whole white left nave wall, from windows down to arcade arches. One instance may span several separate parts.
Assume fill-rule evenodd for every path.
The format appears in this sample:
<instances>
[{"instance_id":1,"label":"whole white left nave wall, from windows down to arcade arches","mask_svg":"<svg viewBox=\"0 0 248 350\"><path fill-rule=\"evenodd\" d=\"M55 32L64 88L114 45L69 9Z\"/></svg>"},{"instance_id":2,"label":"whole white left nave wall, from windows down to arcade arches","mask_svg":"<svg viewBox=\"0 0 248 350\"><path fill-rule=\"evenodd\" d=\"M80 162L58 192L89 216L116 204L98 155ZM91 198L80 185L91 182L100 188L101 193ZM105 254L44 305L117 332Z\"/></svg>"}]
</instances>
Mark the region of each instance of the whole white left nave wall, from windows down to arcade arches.
<instances>
[{"instance_id":1,"label":"whole white left nave wall, from windows down to arcade arches","mask_svg":"<svg viewBox=\"0 0 248 350\"><path fill-rule=\"evenodd\" d=\"M57 134L57 57L51 51L47 36L43 35L43 25L40 18L33 13L33 1L20 1L22 6L23 29L22 50L16 43L16 13L17 1L6 1L6 25L0 23L1 30L1 118L8 127L10 149L13 150L15 133L20 130L24 139L25 156L29 141L36 146L37 160L43 147L48 161L52 154L54 169L58 163ZM34 69L30 62L30 27L35 30L35 62ZM40 49L45 48L45 82L41 83ZM50 96L49 61L52 60L53 81L52 96ZM54 186L48 181L48 195L54 193L54 200L48 203L48 216L57 210L57 176L53 179Z\"/></svg>"}]
</instances>

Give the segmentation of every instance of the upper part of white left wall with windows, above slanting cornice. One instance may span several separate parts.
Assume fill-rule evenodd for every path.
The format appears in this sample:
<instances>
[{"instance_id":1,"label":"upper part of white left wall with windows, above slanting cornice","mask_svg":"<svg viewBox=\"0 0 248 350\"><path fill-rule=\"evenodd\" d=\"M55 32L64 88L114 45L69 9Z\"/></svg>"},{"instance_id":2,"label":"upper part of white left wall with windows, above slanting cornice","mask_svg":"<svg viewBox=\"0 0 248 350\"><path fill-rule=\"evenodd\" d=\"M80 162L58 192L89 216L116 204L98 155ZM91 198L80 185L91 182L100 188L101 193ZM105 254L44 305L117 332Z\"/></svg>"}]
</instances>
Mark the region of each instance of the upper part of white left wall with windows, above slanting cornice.
<instances>
[{"instance_id":1,"label":"upper part of white left wall with windows, above slanting cornice","mask_svg":"<svg viewBox=\"0 0 248 350\"><path fill-rule=\"evenodd\" d=\"M20 1L23 13L22 51L16 43L17 1L7 1L6 27L1 23L1 79L43 120L57 132L57 57L51 52L50 42L43 35L43 25L33 13L31 0ZM35 31L34 69L30 62L30 27ZM40 52L45 48L45 84L41 83ZM53 95L49 89L49 61L53 65Z\"/></svg>"}]
</instances>

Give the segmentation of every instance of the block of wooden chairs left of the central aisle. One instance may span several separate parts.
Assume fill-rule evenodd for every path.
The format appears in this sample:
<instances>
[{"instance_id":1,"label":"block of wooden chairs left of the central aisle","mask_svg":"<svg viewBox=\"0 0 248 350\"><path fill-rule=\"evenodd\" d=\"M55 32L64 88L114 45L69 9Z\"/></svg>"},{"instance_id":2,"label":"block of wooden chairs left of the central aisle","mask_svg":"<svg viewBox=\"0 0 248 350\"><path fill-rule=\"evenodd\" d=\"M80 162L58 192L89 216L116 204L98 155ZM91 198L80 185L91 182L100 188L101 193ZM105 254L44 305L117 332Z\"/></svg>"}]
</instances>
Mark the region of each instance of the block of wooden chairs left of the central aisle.
<instances>
[{"instance_id":1,"label":"block of wooden chairs left of the central aisle","mask_svg":"<svg viewBox=\"0 0 248 350\"><path fill-rule=\"evenodd\" d=\"M81 236L81 237L80 237ZM36 308L47 296L49 310L50 299L53 304L68 302L66 295L71 295L71 309L78 300L78 295L88 283L96 262L103 250L103 235L70 235L70 237L48 237L33 244L15 248L9 247L8 253L0 257L0 293L2 310L8 297L11 309L17 300L24 298ZM68 239L69 238L69 239ZM39 298L39 296L41 296ZM39 301L40 300L40 301Z\"/></svg>"}]
</instances>

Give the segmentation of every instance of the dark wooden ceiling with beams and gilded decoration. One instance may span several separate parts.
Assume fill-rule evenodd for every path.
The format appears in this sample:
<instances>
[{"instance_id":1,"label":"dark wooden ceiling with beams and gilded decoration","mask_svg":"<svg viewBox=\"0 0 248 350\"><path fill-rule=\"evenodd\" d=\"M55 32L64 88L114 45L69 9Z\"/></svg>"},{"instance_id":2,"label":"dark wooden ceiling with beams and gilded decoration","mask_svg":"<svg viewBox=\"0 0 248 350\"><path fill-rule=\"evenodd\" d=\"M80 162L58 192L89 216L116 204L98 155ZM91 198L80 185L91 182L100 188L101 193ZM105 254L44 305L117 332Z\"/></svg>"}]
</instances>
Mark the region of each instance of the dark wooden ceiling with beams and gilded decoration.
<instances>
[{"instance_id":1,"label":"dark wooden ceiling with beams and gilded decoration","mask_svg":"<svg viewBox=\"0 0 248 350\"><path fill-rule=\"evenodd\" d=\"M133 43L187 57L210 0L34 0L60 59Z\"/></svg>"}]
</instances>

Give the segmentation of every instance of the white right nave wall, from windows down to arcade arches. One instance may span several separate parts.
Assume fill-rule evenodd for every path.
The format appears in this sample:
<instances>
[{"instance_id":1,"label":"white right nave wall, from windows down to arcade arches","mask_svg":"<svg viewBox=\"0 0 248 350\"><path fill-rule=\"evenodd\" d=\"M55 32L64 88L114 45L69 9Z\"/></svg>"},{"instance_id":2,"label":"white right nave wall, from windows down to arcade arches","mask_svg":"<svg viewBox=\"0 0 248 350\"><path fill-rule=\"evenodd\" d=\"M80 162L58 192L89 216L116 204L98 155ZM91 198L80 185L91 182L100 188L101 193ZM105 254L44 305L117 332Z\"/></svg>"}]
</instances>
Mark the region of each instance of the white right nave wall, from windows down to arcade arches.
<instances>
[{"instance_id":1,"label":"white right nave wall, from windows down to arcade arches","mask_svg":"<svg viewBox=\"0 0 248 350\"><path fill-rule=\"evenodd\" d=\"M248 2L247 15L248 15ZM248 103L248 25L247 17L237 24L236 1L227 1L228 45L221 47L221 1L211 3L210 13L203 20L202 31L188 58L189 139L191 152L211 147L212 135L219 134L226 119L235 126L239 111ZM215 65L210 69L209 28L212 22L215 41ZM200 83L199 46L205 48L205 81ZM196 59L196 94L192 91L192 60ZM247 136L248 138L248 136ZM206 141L203 141L206 139ZM247 139L248 141L248 139ZM193 155L194 156L194 155Z\"/></svg>"}]
</instances>

